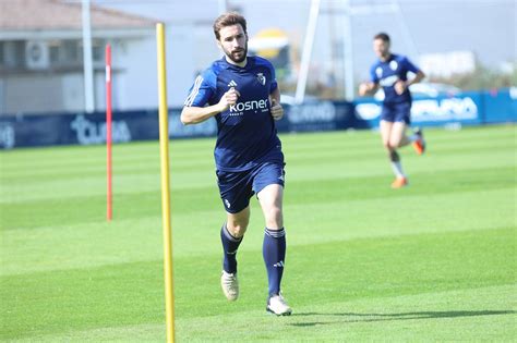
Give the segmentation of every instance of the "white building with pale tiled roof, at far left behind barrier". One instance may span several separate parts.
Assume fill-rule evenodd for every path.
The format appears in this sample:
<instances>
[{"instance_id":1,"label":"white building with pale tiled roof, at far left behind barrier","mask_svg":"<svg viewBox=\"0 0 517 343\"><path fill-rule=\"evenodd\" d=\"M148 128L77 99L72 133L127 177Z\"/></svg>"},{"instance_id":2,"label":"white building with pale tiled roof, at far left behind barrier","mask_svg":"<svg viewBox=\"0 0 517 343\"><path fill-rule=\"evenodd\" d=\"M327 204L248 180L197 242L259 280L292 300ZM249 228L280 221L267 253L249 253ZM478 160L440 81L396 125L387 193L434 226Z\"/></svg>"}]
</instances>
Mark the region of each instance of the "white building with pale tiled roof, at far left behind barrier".
<instances>
[{"instance_id":1,"label":"white building with pale tiled roof, at far left behind barrier","mask_svg":"<svg viewBox=\"0 0 517 343\"><path fill-rule=\"evenodd\" d=\"M84 110L81 14L80 3L0 0L0 113ZM156 107L137 101L156 91L155 21L92 7L91 22L95 108L105 108L107 42L113 108ZM134 63L146 68L130 68Z\"/></svg>"}]
</instances>

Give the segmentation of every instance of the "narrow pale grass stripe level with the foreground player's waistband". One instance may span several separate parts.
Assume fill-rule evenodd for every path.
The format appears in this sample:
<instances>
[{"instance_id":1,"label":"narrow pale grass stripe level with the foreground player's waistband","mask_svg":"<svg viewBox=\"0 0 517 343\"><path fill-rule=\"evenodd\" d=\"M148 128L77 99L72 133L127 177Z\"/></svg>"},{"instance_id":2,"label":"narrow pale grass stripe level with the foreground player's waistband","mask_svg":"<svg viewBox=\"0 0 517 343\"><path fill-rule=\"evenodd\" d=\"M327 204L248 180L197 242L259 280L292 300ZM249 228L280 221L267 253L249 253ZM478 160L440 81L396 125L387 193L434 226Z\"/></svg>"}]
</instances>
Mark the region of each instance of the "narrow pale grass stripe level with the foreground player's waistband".
<instances>
[{"instance_id":1,"label":"narrow pale grass stripe level with the foreground player's waistband","mask_svg":"<svg viewBox=\"0 0 517 343\"><path fill-rule=\"evenodd\" d=\"M405 159L406 170L412 177L418 173L455 171L455 170L479 170L488 168L515 168L515 159L512 158L509 150L485 151L483 163L480 161L480 151L461 154L458 160L454 155L438 155L428 158L410 157ZM300 160L288 162L286 167L288 185L290 181L312 181L322 179L357 177L357 176L376 176L386 175L392 177L388 171L389 164L384 158L368 160L351 159L318 159L317 162ZM159 191L159 173L115 173L113 193L125 194L142 191ZM515 183L515 177L514 177ZM214 186L216 184L215 172L213 168L196 168L190 172L179 172L171 168L171 188L200 188ZM14 203L31 199L45 199L52 197L70 197L77 195L98 195L106 193L106 176L94 176L88 174L74 175L68 179L32 179L27 183L19 182L2 184L0 189L0 203Z\"/></svg>"}]
</instances>

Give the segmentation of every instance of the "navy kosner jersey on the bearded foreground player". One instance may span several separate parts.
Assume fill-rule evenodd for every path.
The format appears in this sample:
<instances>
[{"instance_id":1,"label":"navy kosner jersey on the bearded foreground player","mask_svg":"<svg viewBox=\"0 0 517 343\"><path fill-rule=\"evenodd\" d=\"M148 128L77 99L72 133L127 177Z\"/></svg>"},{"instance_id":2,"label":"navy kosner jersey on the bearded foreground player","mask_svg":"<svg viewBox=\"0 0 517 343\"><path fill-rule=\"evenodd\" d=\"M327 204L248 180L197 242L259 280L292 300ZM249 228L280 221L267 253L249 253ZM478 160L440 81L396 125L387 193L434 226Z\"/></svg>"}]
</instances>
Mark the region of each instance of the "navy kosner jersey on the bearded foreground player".
<instances>
[{"instance_id":1,"label":"navy kosner jersey on the bearded foreground player","mask_svg":"<svg viewBox=\"0 0 517 343\"><path fill-rule=\"evenodd\" d=\"M244 68L225 58L215 61L191 87L184 106L218 103L230 88L240 93L237 103L215 115L216 167L223 171L244 171L264 161L284 162L280 139L270 115L269 94L278 85L273 65L260 57L248 57Z\"/></svg>"}]
</instances>

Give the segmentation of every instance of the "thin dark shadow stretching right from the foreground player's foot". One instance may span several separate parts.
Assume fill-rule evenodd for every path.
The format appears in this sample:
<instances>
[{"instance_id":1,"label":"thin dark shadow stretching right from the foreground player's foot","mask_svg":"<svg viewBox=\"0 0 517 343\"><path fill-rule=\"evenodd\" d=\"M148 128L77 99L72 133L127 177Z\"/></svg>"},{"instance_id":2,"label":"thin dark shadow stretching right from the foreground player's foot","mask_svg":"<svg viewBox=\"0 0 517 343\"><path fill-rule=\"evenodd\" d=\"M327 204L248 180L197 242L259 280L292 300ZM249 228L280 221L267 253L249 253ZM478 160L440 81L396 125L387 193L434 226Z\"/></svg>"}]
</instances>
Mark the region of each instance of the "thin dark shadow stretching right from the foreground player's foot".
<instances>
[{"instance_id":1,"label":"thin dark shadow stretching right from the foreground player's foot","mask_svg":"<svg viewBox=\"0 0 517 343\"><path fill-rule=\"evenodd\" d=\"M503 316L515 315L515 310L450 310L450 311L414 311L401 314L325 314L325 313L300 313L292 314L292 317L345 317L338 322L374 322L374 321L390 321L390 320L412 320L412 319L436 319L436 318L457 318L457 317L479 317L479 316ZM333 324L337 321L306 321L290 323L293 327L314 327Z\"/></svg>"}]
</instances>

